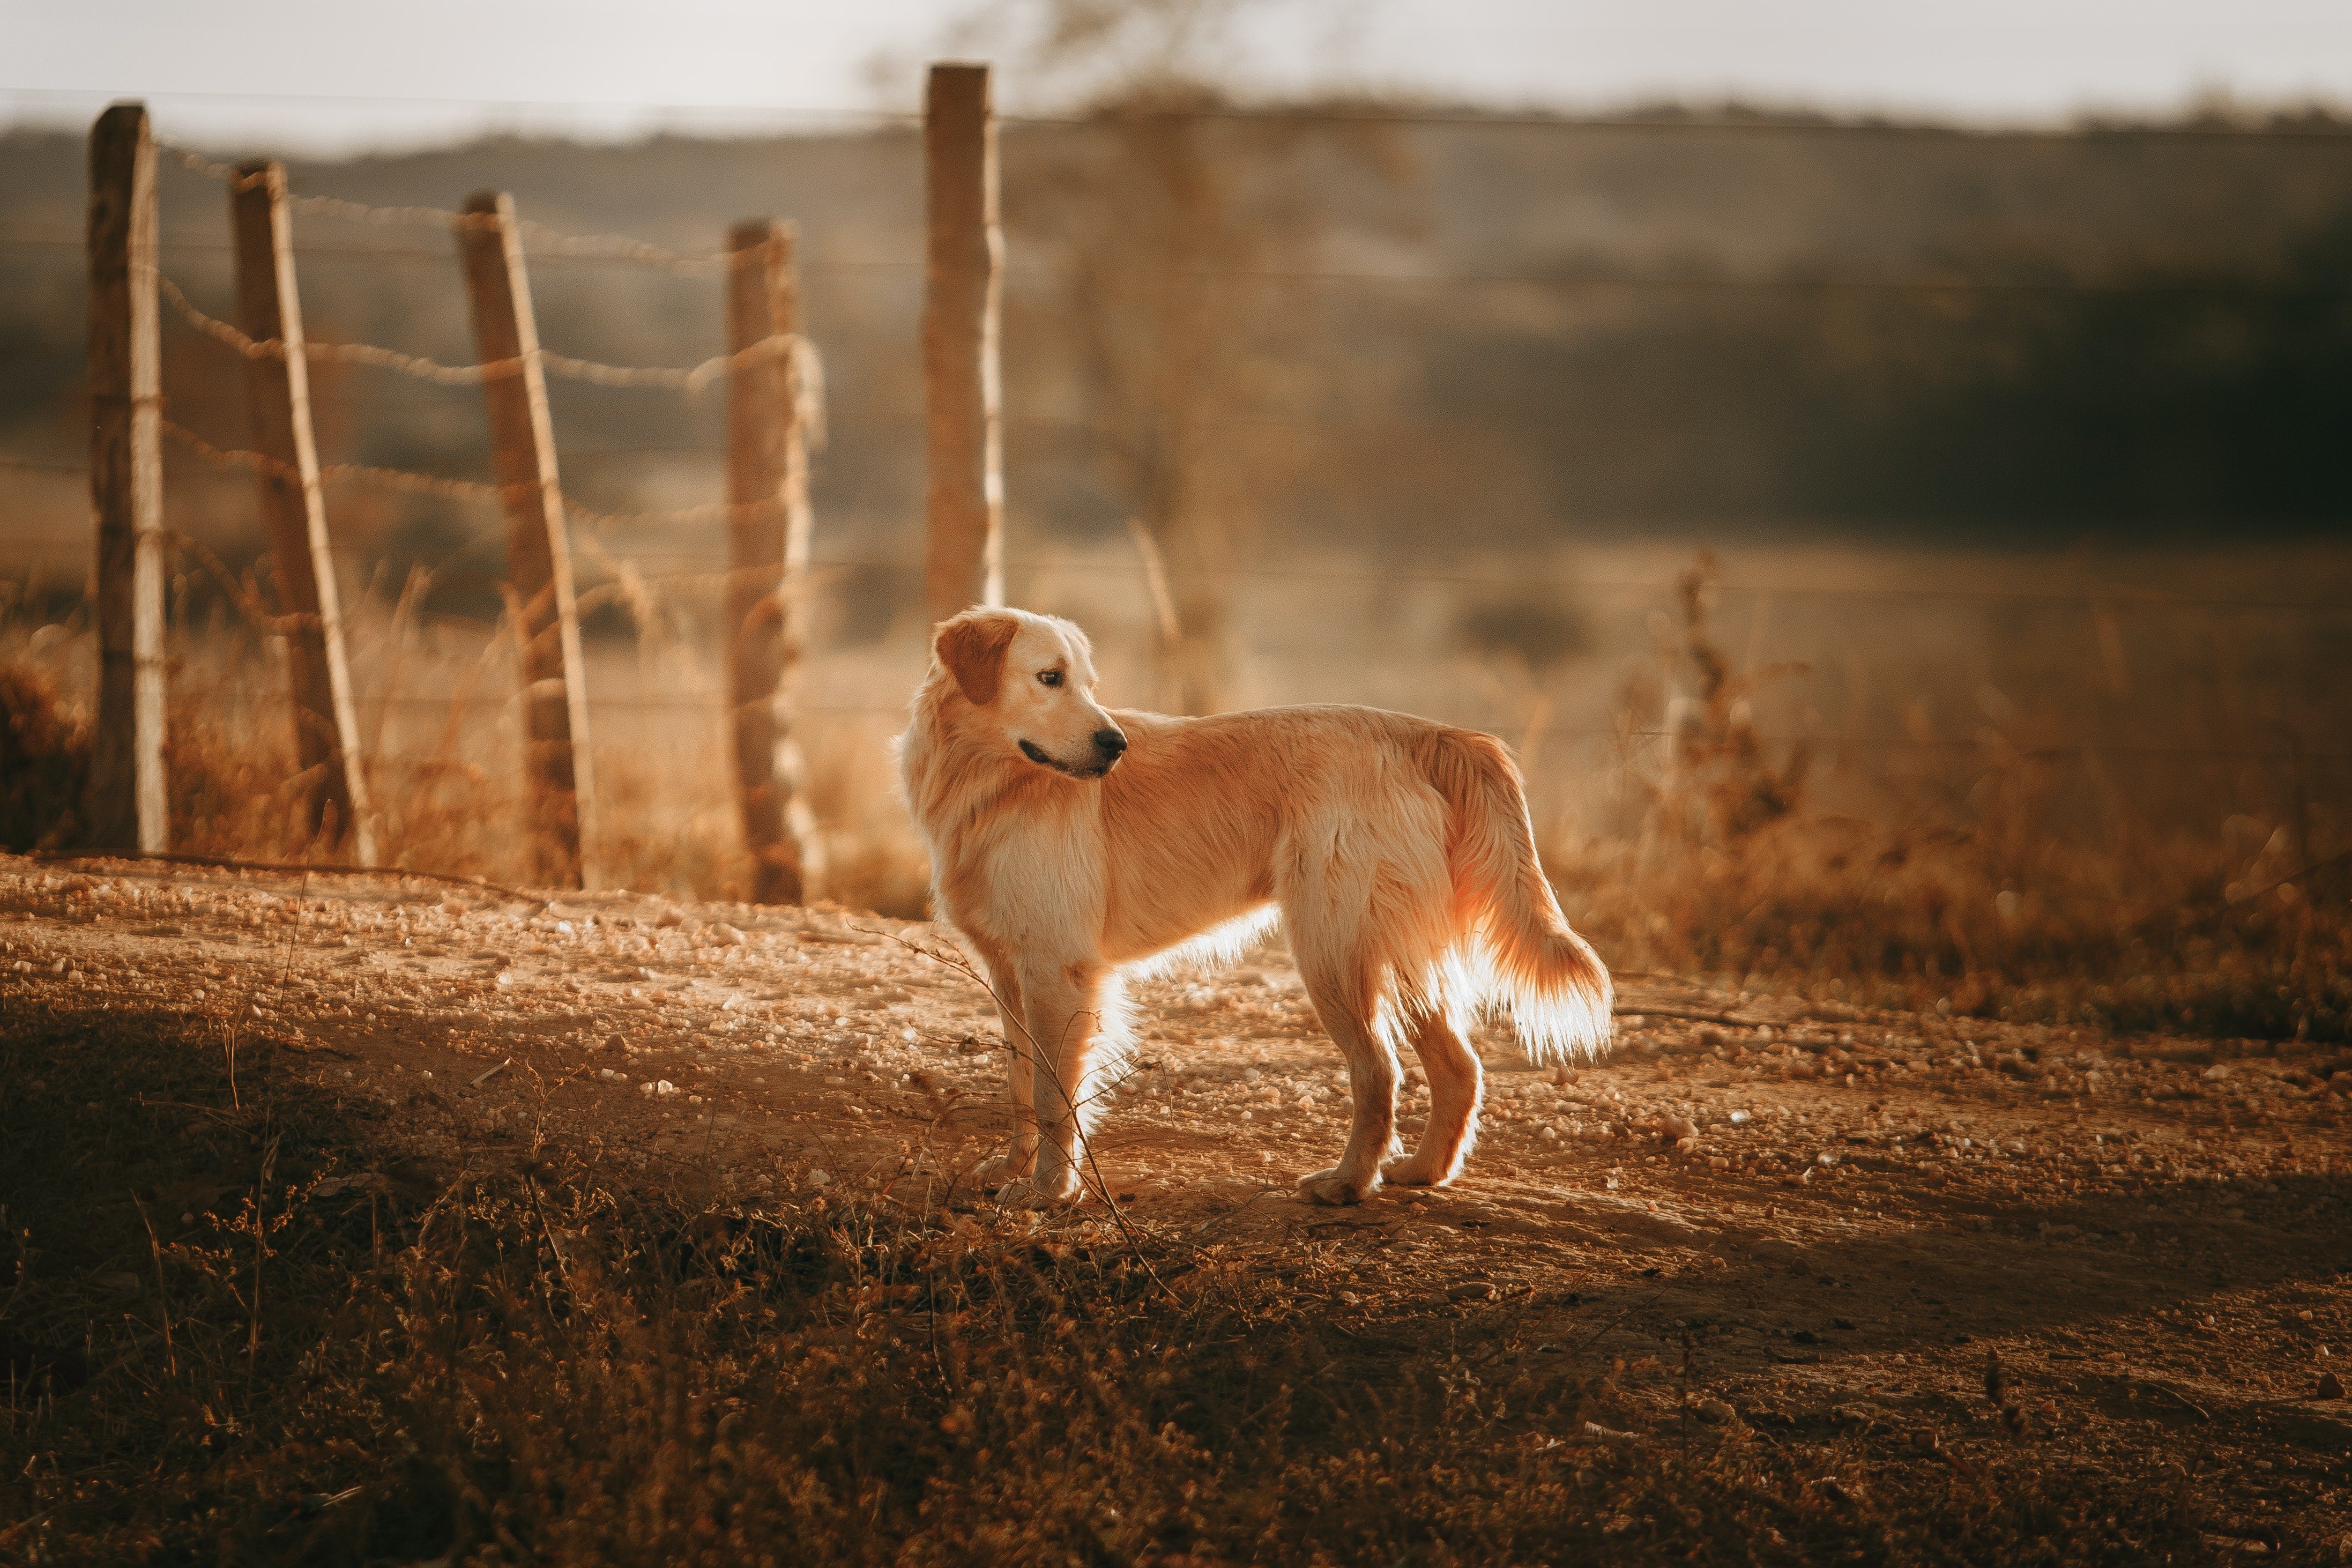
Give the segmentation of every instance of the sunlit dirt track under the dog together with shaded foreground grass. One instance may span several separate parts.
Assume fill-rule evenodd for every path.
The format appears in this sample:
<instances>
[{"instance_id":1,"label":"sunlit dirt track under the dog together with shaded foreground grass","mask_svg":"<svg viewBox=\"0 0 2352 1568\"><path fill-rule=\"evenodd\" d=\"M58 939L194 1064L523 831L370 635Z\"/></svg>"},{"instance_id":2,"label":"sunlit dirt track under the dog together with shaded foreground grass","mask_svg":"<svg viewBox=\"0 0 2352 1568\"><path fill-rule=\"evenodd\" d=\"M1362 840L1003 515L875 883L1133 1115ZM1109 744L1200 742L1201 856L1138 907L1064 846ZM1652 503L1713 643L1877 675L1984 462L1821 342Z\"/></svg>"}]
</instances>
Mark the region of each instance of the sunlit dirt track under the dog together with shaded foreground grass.
<instances>
[{"instance_id":1,"label":"sunlit dirt track under the dog together with shaded foreground grass","mask_svg":"<svg viewBox=\"0 0 2352 1568\"><path fill-rule=\"evenodd\" d=\"M950 952L0 860L0 1554L2352 1561L2340 1044L1630 973L1336 1211L1265 950L1141 987L1040 1218Z\"/></svg>"}]
</instances>

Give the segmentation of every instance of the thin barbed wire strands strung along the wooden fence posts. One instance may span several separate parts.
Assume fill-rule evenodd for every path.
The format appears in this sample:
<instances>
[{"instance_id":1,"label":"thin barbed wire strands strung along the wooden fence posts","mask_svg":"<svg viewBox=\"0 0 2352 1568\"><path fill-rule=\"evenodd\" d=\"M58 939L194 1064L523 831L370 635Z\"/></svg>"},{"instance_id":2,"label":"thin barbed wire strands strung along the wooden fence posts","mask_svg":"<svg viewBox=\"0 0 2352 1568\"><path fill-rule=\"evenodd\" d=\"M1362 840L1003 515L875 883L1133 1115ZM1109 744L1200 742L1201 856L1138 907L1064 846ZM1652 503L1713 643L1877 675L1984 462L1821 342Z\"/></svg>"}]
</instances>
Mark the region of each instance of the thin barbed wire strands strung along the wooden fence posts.
<instances>
[{"instance_id":1,"label":"thin barbed wire strands strung along the wooden fence posts","mask_svg":"<svg viewBox=\"0 0 2352 1568\"><path fill-rule=\"evenodd\" d=\"M1216 115L1211 115L1216 118ZM1334 125L1355 122L1404 122L1404 125L1484 125L1484 127L1508 127L1517 122L1496 118L1439 118L1439 115L1364 115L1348 118L1334 115L1324 118ZM1021 125L1082 125L1075 120L1021 120ZM1091 120L1084 125L1094 125ZM1529 122L1534 125L1534 122ZM1543 122L1557 125L1557 122ZM1628 120L1621 125L1583 122L1585 129L1644 129L1658 132L1668 129L1675 134L1700 134L1700 132L1724 132L1724 134L1816 134L1828 127L1788 127L1788 125L1682 125L1682 122L1649 122ZM1849 127L1846 134L1893 134L1886 127ZM1903 132L1903 134L1926 134L1926 132ZM2230 132L2232 136L2251 136L2251 132ZM2284 136L2284 134L2281 134ZM2281 139L2270 136L2270 139ZM2216 136L2199 136L2216 139ZM2352 148L2352 132L2328 132L2326 136L2312 136L2314 146L2347 146ZM259 174L249 174L233 165L209 160L188 148L167 148L169 155L193 174L221 181L230 190L254 188ZM355 223L369 228L437 228L452 235L466 235L473 230L485 230L499 223L494 216L456 212L445 207L423 205L393 205L379 207L367 202L353 202L329 195L289 195L287 205L301 214L327 219L336 223ZM567 261L567 263L612 263L612 266L635 266L654 273L682 275L682 277L722 277L731 268L743 263L743 252L689 252L652 244L628 235L574 235L550 228L536 221L515 221L515 230L522 237L524 254L529 261ZM47 235L16 228L0 228L0 244L82 244L78 235ZM160 244L165 254L219 254L233 252L226 242L193 240L193 237L169 237ZM452 252L437 252L426 247L407 244L296 244L301 256L336 256L336 259L360 259L360 261L433 261L440 266L452 266ZM833 259L818 263L830 270L894 270L906 273L920 268L913 259ZM1016 268L1018 270L1018 268ZM1397 289L1649 289L1649 292L1773 292L1773 294L1917 294L1917 296L1950 296L1950 294L1983 294L1983 296L2023 296L2023 294L2199 294L2199 292L2279 292L2277 280L2260 277L2159 277L2159 280L2077 280L2077 277L1971 277L1971 275L1715 275L1715 273L1644 273L1644 270L1616 270L1616 268L1592 268L1592 266L1562 266L1548 270L1529 273L1411 273L1411 270L1317 270L1317 268L1195 268L1183 270L1185 280L1202 284L1228 284L1228 287L1397 287ZM2317 294L2352 294L2352 280L2340 284L2296 284L2300 292ZM162 301L172 308L179 322L186 324L191 334L226 350L245 362L263 360L287 360L289 346L282 339L254 339L233 322L202 310L186 289L169 275L158 275L158 292ZM823 440L823 362L804 331L779 331L769 334L741 350L710 355L694 364L607 364L600 360L572 357L553 353L546 348L529 348L524 355L482 360L482 362L442 362L426 355L414 355L376 343L325 343L306 341L301 355L308 362L320 364L355 364L376 371L388 371L405 376L414 383L433 388L489 388L501 381L513 381L524 376L534 367L541 374L562 376L586 386L600 388L633 388L633 390L663 390L687 397L696 397L713 386L720 386L729 376L748 371L762 364L783 364L790 371L790 386L797 395L797 418L809 433L811 442ZM1056 421L1037 421L1056 423ZM1080 423L1080 421L1068 421ZM1289 423L1289 421L1263 421L1263 423ZM186 428L174 418L162 418L162 435L191 461L219 470L240 475L268 475L275 480L301 484L306 475L299 465L285 458L270 456L266 451L216 444L195 430ZM670 456L670 458L717 458L720 449L710 447L670 447L670 449L569 449L557 454L557 465L576 458L647 458L647 456ZM73 475L80 468L66 463L42 463L38 458L0 456L0 468L21 473L54 473ZM327 463L318 465L313 475L327 487L362 487L390 494L409 496L433 496L440 501L452 501L461 505L506 505L517 496L517 491L539 491L536 484L492 484L480 480L463 480L449 475L419 473L395 465L365 465L365 463ZM647 508L647 510L597 510L583 505L576 496L560 494L562 517L569 527L590 531L616 531L616 529L682 529L696 524L717 524L741 520L746 512L767 508L764 501L753 503L701 503L701 505L670 505L670 508ZM487 550L496 545L496 536L485 531L477 541L468 543L463 552ZM362 545L329 545L339 552L360 552ZM454 557L452 557L454 559ZM708 571L670 571L670 574L635 574L635 583L666 585L675 590L713 592L724 590L739 574L722 562L710 559L706 552L687 550L633 550L630 569L637 564L691 564ZM447 567L449 562L445 562ZM811 571L887 571L887 574L915 574L920 567L903 557L861 557L861 555L826 555L811 557ZM1056 559L1035 557L1011 562L1016 569L1033 574L1108 574L1122 578L1136 578L1138 569L1115 562L1098 559ZM226 574L226 569L221 569ZM1651 578L1597 578L1597 576L1543 576L1543 574L1494 574L1494 571L1428 571L1428 569L1402 569L1402 571L1345 571L1345 569L1317 569L1317 567L1279 567L1279 564L1225 564L1225 567L1167 567L1169 576L1197 578L1211 576L1228 583L1256 583L1268 588L1392 588L1402 583L1425 585L1425 588L1451 588L1451 590L1510 590L1510 592L1625 592L1646 595L1665 599L1672 592L1670 583ZM2082 607L2091 614L2110 614L2117 607L2140 609L2140 611L2256 611L2256 614L2293 614L2314 618L2340 618L2352 614L2352 602L2336 595L2319 597L2260 597L2260 595L2211 595L2211 592L2166 592L2166 590L2133 590L2126 585L2098 585L2098 588L1969 588L1969 585L1915 585L1915 588L1891 588L1891 585L1837 585L1837 583L1795 583L1795 585L1740 585L1724 583L1717 592L1745 592L1745 595L1771 595L1785 599L1818 599L1832 604L1851 602L1889 602L1889 604L1924 604L1924 602L1947 602L1947 604L2042 604L2042 607ZM529 691L517 691L513 696L397 696L383 693L376 698L383 708L437 708L445 712L456 710L501 710L522 712L534 703ZM586 696L581 712L609 710L609 712L696 712L710 719L724 719L739 712L722 691L673 691L659 698L626 698L626 696ZM823 717L894 717L903 712L896 703L797 703L800 712L823 715ZM1590 743L1616 743L1616 745L1668 745L1679 738L1675 729L1639 726L1639 724L1609 724L1609 726L1529 726L1526 741L1541 748L1557 745L1590 745ZM1797 736L1816 748L1825 750L1877 750L1877 752L1980 752L1987 750L1983 738L1936 738L1936 736L1886 736L1886 733L1809 733ZM1783 741L1773 741L1783 743ZM2171 745L2171 743L2079 743L2079 745L2030 745L2030 743L1999 743L2013 757L2027 762L2060 762L2070 757L2082 757L2084 752L2100 752L2114 757L2145 759L2150 764L2161 764L2171 759L2216 759L2216 762L2293 762L2305 764L2340 764L2352 762L2352 752L2326 750L2326 748L2260 748L2260 745Z\"/></svg>"}]
</instances>

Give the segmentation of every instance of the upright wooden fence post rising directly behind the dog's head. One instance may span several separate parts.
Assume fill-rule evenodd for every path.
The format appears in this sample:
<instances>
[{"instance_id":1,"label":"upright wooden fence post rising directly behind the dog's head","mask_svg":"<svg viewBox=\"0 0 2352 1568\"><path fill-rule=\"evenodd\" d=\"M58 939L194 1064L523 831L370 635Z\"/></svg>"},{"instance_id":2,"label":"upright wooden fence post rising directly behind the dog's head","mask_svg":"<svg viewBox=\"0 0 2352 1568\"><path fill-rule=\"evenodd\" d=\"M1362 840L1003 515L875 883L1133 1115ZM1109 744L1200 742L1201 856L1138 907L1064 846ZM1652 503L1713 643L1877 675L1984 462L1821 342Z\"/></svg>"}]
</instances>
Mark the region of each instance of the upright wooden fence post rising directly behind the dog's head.
<instances>
[{"instance_id":1,"label":"upright wooden fence post rising directly behind the dog's head","mask_svg":"<svg viewBox=\"0 0 2352 1568\"><path fill-rule=\"evenodd\" d=\"M988 66L931 66L922 110L927 282L922 400L929 458L924 604L946 621L1004 602L1004 437L1000 430L997 122Z\"/></svg>"}]
</instances>

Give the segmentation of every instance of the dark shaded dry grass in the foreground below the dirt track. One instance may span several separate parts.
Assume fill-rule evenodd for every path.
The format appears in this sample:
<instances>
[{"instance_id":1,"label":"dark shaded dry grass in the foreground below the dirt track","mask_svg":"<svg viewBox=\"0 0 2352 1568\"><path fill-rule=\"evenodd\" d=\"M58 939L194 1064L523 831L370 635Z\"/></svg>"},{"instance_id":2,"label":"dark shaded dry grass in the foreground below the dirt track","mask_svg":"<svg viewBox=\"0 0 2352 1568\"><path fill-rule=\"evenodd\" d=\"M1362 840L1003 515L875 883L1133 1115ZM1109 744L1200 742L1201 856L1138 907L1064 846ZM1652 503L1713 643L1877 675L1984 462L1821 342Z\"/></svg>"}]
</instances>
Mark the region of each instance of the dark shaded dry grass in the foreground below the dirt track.
<instances>
[{"instance_id":1,"label":"dark shaded dry grass in the foreground below the dirt track","mask_svg":"<svg viewBox=\"0 0 2352 1568\"><path fill-rule=\"evenodd\" d=\"M513 1140L407 1159L219 1023L0 1032L0 1552L143 1563L2199 1563L2185 1488L2023 1443L1616 1429L1510 1314L1341 1331L1315 1248ZM75 1150L61 1180L56 1150ZM1686 1335L1689 1368L1693 1342ZM1689 1378L1689 1371L1684 1373Z\"/></svg>"}]
</instances>

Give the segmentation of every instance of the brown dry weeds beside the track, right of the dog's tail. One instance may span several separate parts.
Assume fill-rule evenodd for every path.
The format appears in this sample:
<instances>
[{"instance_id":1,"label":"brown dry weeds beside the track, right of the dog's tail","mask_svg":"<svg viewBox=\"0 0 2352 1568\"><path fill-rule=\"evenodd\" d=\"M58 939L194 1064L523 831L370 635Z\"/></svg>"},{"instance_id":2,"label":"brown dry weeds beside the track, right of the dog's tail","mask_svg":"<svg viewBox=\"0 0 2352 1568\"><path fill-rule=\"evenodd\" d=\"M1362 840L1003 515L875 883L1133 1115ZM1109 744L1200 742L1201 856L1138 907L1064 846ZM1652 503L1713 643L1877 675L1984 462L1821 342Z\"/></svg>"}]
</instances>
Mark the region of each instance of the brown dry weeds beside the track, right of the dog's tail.
<instances>
[{"instance_id":1,"label":"brown dry weeds beside the track, right of the dog's tail","mask_svg":"<svg viewBox=\"0 0 2352 1568\"><path fill-rule=\"evenodd\" d=\"M1915 783L1891 823L1823 813L1806 748L1757 733L1795 672L1724 651L1710 571L1682 578L1663 663L1684 696L1637 832L1548 846L1611 961L2018 1023L2352 1037L2352 865L2310 849L2343 832L2340 802L2293 830L2246 820L2249 846L2119 799L2084 842L2051 748L1987 733L1955 769L1964 792Z\"/></svg>"}]
</instances>

